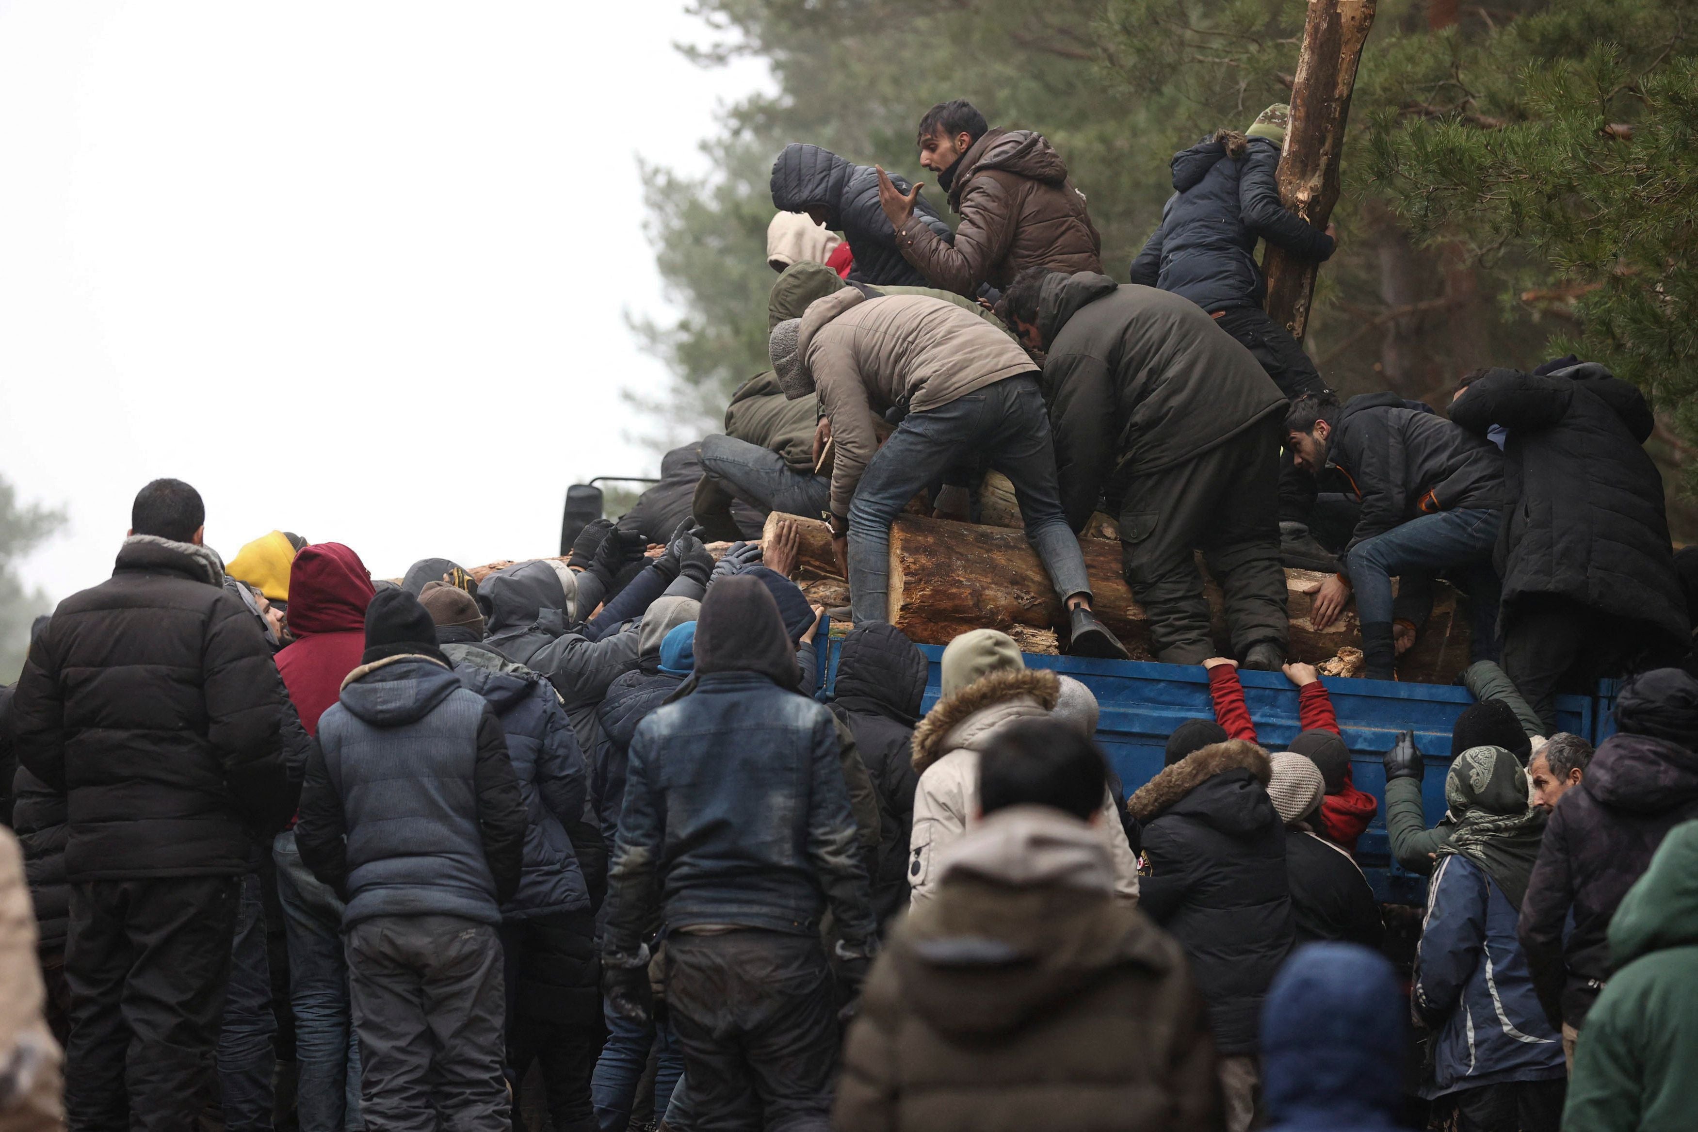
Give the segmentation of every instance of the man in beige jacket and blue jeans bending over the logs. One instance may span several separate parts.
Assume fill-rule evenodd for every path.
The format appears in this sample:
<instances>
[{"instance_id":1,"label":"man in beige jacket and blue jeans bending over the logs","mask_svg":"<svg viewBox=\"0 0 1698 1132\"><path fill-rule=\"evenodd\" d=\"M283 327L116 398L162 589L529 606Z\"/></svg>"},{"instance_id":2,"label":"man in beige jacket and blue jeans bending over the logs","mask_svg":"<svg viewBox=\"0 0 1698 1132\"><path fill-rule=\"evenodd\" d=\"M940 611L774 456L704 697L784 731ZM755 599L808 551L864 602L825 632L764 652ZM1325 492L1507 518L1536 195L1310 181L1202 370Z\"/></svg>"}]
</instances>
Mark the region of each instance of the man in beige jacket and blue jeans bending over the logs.
<instances>
[{"instance_id":1,"label":"man in beige jacket and blue jeans bending over the logs","mask_svg":"<svg viewBox=\"0 0 1698 1132\"><path fill-rule=\"evenodd\" d=\"M784 395L818 392L830 421L829 514L857 625L888 621L890 524L902 507L947 467L983 451L1014 482L1026 538L1068 608L1068 650L1127 658L1090 611L1085 555L1056 490L1037 368L1007 334L941 299L868 299L846 289L773 328L769 350ZM891 409L902 423L880 448L873 423Z\"/></svg>"}]
</instances>

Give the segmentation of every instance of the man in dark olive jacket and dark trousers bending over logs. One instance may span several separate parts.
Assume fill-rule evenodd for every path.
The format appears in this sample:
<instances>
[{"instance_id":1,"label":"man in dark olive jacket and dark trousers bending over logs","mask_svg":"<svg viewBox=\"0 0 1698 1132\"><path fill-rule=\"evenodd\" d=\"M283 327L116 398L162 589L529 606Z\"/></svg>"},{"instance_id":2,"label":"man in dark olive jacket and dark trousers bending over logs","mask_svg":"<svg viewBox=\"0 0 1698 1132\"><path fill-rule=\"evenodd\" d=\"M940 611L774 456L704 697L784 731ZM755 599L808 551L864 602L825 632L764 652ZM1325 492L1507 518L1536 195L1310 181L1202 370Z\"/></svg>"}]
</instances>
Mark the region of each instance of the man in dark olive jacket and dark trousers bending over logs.
<instances>
[{"instance_id":1,"label":"man in dark olive jacket and dark trousers bending over logs","mask_svg":"<svg viewBox=\"0 0 1698 1132\"><path fill-rule=\"evenodd\" d=\"M1126 580L1156 658L1216 655L1192 560L1202 550L1233 652L1246 669L1279 670L1290 623L1279 557L1285 395L1274 380L1189 299L1092 272L1027 268L998 314L1046 353L1066 521L1083 528L1105 490L1119 509Z\"/></svg>"}]
</instances>

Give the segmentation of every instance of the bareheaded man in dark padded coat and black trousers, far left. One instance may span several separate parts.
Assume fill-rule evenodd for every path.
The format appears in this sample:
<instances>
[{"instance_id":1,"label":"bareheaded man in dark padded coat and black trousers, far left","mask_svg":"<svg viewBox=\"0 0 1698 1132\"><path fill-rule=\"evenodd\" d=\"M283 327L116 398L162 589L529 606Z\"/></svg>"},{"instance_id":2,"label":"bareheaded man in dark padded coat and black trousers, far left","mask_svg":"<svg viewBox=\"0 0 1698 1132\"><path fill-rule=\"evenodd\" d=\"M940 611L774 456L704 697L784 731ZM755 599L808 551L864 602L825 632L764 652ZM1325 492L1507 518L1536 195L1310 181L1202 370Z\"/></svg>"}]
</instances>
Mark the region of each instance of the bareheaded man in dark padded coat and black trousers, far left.
<instances>
[{"instance_id":1,"label":"bareheaded man in dark padded coat and black trousers, far left","mask_svg":"<svg viewBox=\"0 0 1698 1132\"><path fill-rule=\"evenodd\" d=\"M66 796L73 1129L185 1129L212 1088L241 877L294 808L284 686L182 480L136 496L110 580L59 602L14 699Z\"/></svg>"}]
</instances>

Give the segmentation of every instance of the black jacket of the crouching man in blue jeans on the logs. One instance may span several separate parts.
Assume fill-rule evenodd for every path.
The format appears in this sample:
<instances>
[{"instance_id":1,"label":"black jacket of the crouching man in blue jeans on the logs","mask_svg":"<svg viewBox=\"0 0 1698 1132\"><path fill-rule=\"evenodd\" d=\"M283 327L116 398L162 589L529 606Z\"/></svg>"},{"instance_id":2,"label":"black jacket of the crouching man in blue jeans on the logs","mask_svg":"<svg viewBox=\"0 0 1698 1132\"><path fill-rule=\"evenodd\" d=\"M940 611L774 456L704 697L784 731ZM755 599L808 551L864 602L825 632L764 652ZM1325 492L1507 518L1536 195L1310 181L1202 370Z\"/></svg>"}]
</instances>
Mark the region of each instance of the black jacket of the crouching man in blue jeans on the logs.
<instances>
[{"instance_id":1,"label":"black jacket of the crouching man in blue jeans on the logs","mask_svg":"<svg viewBox=\"0 0 1698 1132\"><path fill-rule=\"evenodd\" d=\"M1409 519L1438 511L1498 509L1510 501L1503 453L1396 394L1362 394L1345 402L1328 460L1343 468L1362 497L1350 550Z\"/></svg>"}]
</instances>

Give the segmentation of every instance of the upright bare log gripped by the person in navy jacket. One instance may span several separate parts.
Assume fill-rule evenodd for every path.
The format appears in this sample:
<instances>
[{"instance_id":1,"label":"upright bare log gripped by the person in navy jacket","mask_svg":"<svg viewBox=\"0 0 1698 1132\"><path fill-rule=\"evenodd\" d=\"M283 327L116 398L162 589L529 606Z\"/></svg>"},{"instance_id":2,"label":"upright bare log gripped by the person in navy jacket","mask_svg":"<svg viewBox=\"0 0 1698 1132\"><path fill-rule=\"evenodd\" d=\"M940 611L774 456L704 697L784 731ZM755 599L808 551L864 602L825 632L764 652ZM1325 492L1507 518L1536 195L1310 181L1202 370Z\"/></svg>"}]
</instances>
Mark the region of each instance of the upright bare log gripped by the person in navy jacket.
<instances>
[{"instance_id":1,"label":"upright bare log gripped by the person in navy jacket","mask_svg":"<svg viewBox=\"0 0 1698 1132\"><path fill-rule=\"evenodd\" d=\"M1279 188L1285 207L1316 227L1326 227L1338 204L1338 163L1345 148L1350 92L1357 85L1362 44L1372 25L1374 0L1309 0ZM1262 266L1268 280L1268 314L1302 341L1318 265L1268 244Z\"/></svg>"}]
</instances>

